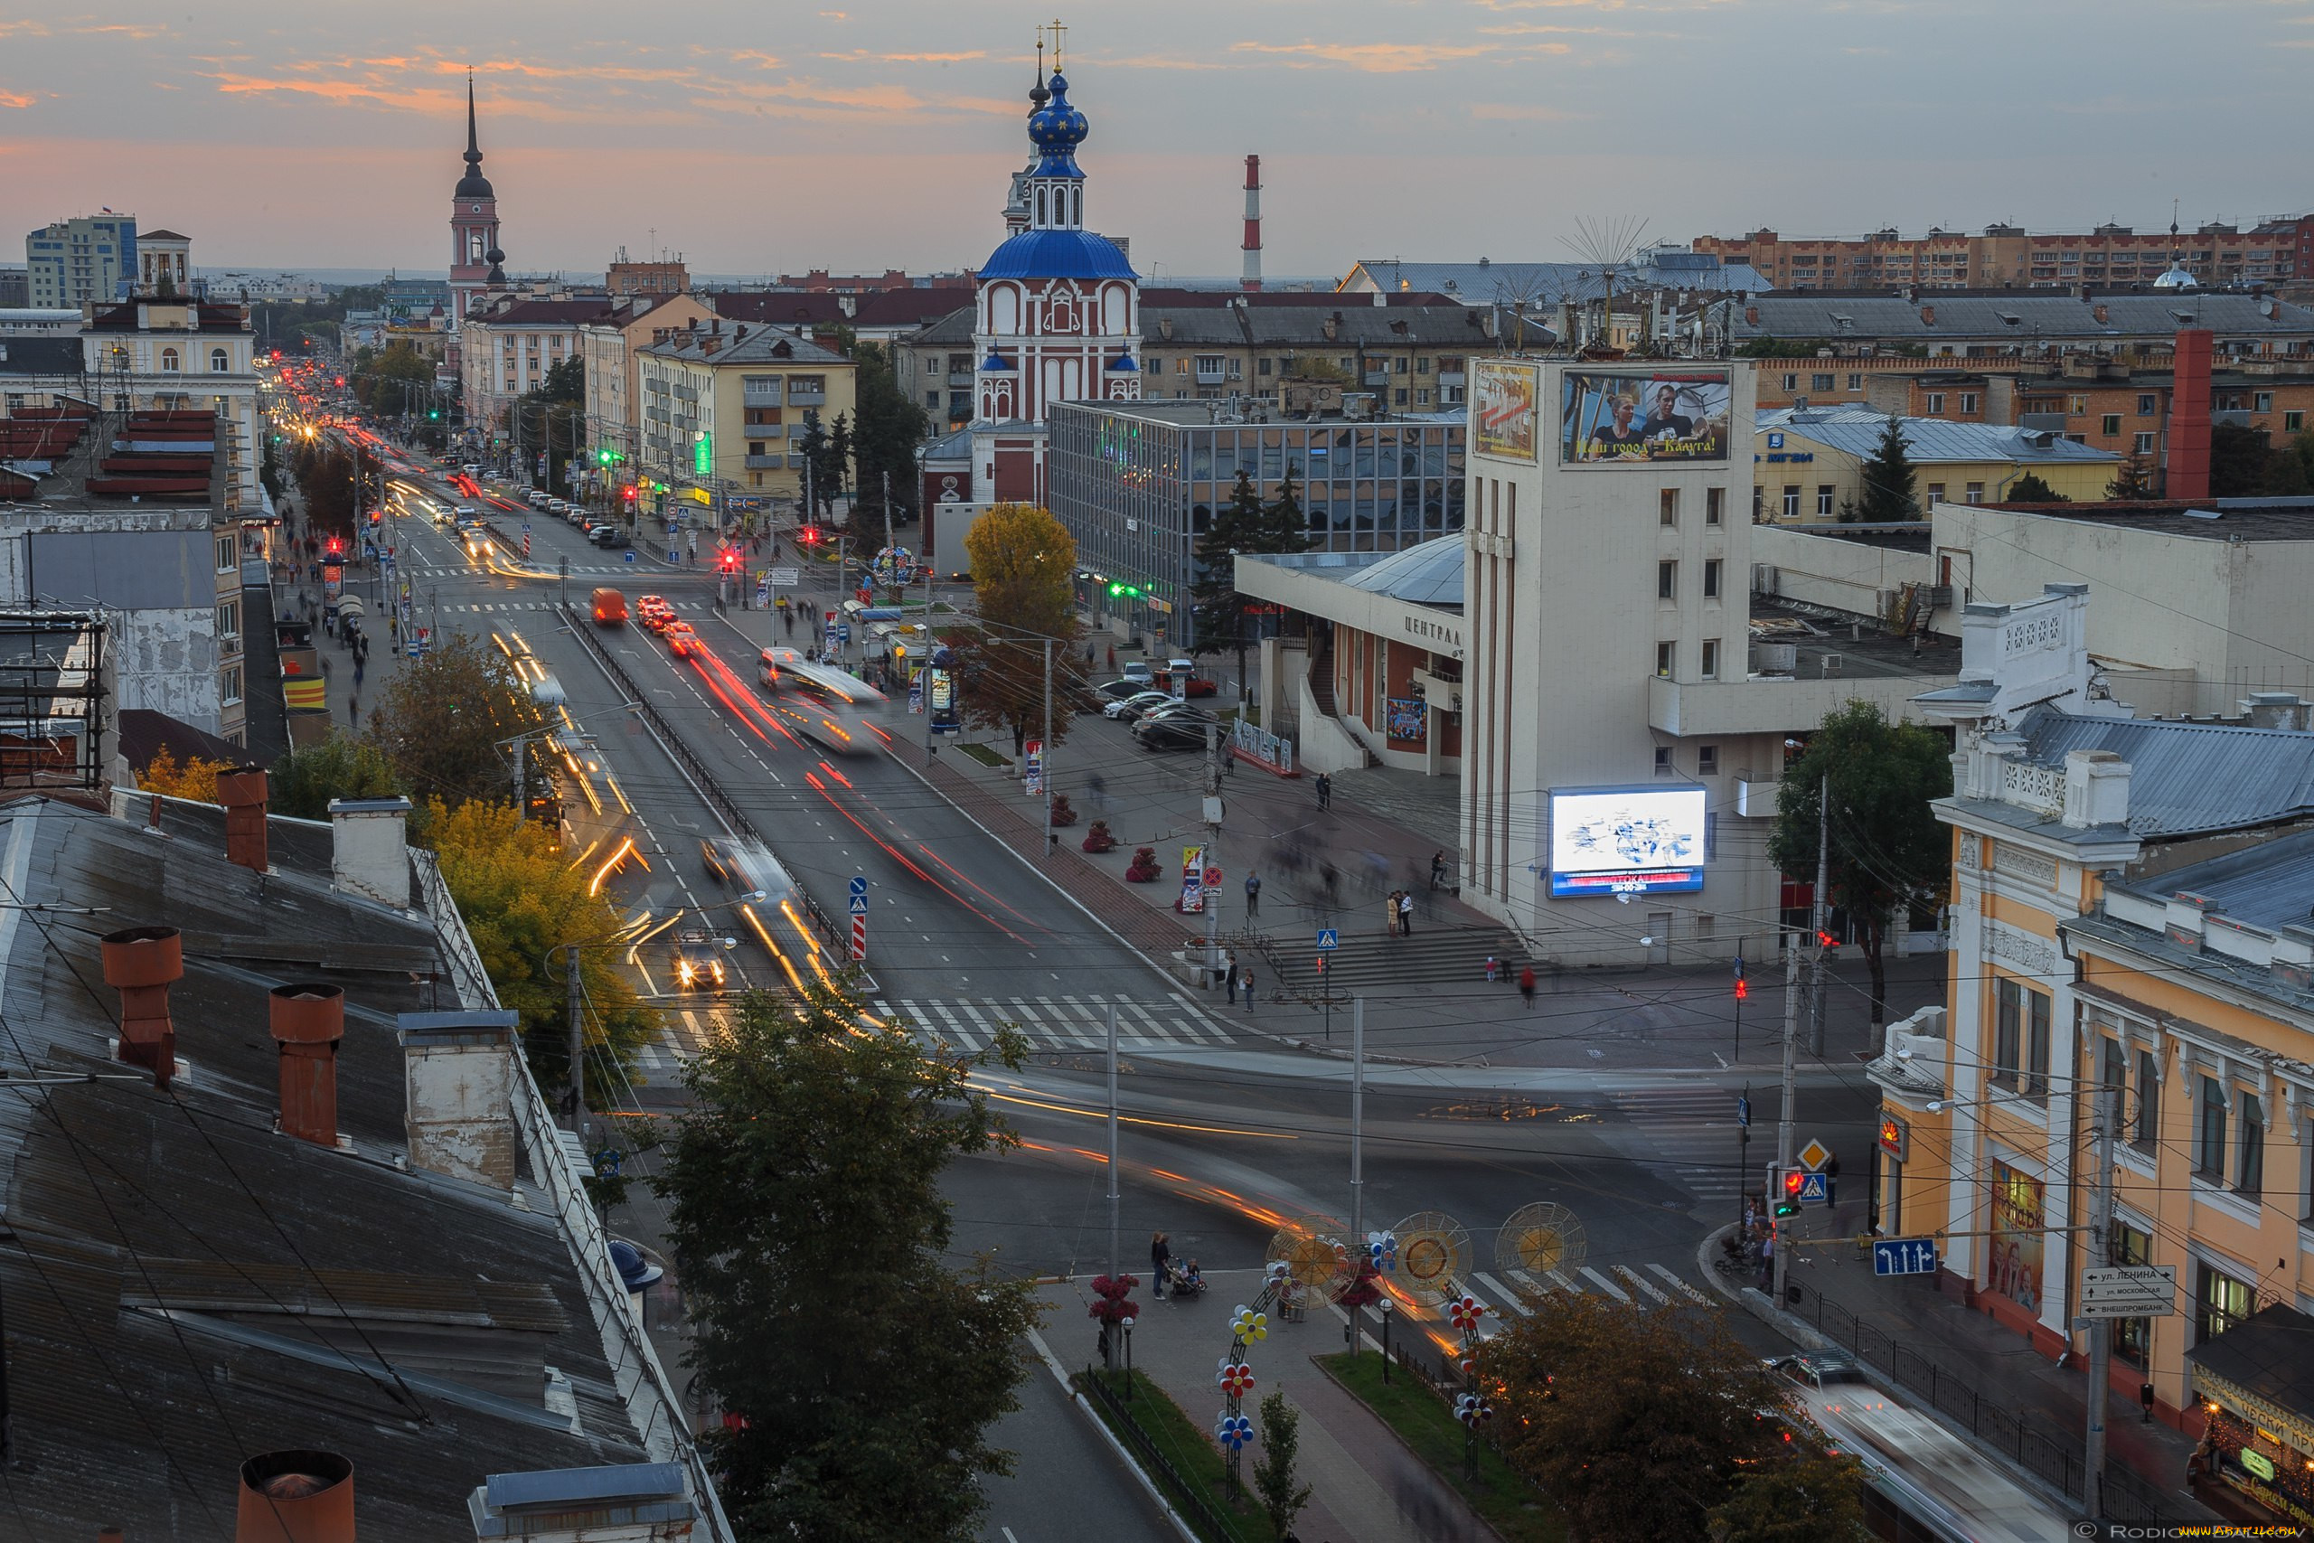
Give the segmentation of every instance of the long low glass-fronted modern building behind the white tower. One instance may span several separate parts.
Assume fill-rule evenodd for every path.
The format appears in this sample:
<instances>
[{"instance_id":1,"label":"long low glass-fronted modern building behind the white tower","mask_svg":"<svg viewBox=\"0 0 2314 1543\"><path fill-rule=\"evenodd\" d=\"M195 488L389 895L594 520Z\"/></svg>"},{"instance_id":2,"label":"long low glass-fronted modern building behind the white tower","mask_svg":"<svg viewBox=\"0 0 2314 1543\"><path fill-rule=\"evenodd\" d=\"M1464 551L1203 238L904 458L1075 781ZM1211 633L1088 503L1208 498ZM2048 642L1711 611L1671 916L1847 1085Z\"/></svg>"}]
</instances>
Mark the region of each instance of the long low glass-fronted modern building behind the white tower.
<instances>
[{"instance_id":1,"label":"long low glass-fronted modern building behind the white tower","mask_svg":"<svg viewBox=\"0 0 2314 1543\"><path fill-rule=\"evenodd\" d=\"M1462 530L1465 419L1280 416L1226 403L1055 403L1053 514L1076 537L1101 622L1182 648L1194 622L1196 539L1245 472L1261 500L1287 474L1310 551L1395 553ZM1125 585L1125 595L1111 595Z\"/></svg>"}]
</instances>

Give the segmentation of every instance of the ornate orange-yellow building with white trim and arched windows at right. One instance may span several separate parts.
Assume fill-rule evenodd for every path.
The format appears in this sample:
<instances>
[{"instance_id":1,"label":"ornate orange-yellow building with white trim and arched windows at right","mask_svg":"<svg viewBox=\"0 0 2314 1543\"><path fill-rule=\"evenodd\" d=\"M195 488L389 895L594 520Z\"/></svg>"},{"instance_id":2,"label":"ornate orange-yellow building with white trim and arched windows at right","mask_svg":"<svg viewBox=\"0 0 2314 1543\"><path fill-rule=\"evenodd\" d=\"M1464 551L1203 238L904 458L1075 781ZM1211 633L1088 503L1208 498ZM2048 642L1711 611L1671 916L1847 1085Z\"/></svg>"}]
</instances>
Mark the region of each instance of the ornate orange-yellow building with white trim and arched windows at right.
<instances>
[{"instance_id":1,"label":"ornate orange-yellow building with white trim and arched windows at right","mask_svg":"<svg viewBox=\"0 0 2314 1543\"><path fill-rule=\"evenodd\" d=\"M1944 1009L1891 1025L1877 1228L1941 1238L1946 1295L2152 1386L2219 1474L2314 1522L2314 708L2136 719L2085 648L2087 590L1974 606L1955 724ZM2096 1122L2113 1099L2115 1212ZM2175 1316L2078 1328L2083 1270L2175 1270ZM2279 1351L2277 1351L2279 1346ZM2295 1365L2291 1379L2263 1367Z\"/></svg>"}]
</instances>

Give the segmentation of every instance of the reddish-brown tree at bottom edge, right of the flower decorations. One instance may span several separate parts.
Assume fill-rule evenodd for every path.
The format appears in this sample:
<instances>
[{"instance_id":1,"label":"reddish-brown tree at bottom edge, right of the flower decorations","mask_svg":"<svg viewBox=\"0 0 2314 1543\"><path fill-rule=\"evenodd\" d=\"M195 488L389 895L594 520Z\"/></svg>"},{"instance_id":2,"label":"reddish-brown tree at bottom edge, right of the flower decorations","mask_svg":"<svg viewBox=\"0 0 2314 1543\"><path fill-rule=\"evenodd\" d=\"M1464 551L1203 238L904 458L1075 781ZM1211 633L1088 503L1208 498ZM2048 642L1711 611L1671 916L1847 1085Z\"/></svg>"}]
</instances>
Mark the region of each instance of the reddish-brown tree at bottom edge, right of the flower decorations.
<instances>
[{"instance_id":1,"label":"reddish-brown tree at bottom edge, right of the flower decorations","mask_svg":"<svg viewBox=\"0 0 2314 1543\"><path fill-rule=\"evenodd\" d=\"M1712 1536L1747 1474L1810 1453L1784 1383L1719 1316L1553 1291L1486 1342L1504 1460L1585 1543Z\"/></svg>"}]
</instances>

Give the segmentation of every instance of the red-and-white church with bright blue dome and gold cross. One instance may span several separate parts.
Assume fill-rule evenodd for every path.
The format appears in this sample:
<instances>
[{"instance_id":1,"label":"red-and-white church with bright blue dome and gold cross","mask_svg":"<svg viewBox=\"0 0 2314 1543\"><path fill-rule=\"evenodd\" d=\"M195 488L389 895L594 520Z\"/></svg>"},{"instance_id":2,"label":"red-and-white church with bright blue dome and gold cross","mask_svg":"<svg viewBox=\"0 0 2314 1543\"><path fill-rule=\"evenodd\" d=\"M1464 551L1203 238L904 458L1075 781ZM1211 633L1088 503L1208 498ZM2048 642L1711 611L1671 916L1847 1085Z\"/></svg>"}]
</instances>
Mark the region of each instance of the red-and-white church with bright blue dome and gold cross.
<instances>
[{"instance_id":1,"label":"red-and-white church with bright blue dome and gold cross","mask_svg":"<svg viewBox=\"0 0 2314 1543\"><path fill-rule=\"evenodd\" d=\"M1014 176L1007 236L974 280L972 500L1046 502L1053 403L1141 396L1141 280L1108 236L1085 229L1083 109L1055 39L1037 49L1030 164Z\"/></svg>"}]
</instances>

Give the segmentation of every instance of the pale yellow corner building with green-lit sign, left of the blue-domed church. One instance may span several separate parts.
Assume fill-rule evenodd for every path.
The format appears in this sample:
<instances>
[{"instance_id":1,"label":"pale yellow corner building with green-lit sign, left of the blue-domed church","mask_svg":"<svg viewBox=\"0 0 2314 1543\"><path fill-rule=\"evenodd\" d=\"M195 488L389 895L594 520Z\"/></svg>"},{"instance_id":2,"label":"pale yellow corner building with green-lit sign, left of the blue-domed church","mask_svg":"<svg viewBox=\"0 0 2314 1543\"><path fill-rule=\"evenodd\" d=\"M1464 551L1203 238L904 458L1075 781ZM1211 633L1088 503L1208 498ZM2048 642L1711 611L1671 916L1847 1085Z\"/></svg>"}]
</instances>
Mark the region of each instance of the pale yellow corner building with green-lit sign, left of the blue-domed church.
<instances>
[{"instance_id":1,"label":"pale yellow corner building with green-lit sign, left of the blue-domed church","mask_svg":"<svg viewBox=\"0 0 2314 1543\"><path fill-rule=\"evenodd\" d=\"M636 352L639 472L678 497L803 497L803 437L854 412L854 366L810 338L708 319Z\"/></svg>"}]
</instances>

